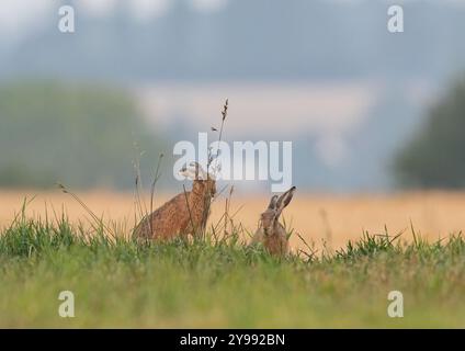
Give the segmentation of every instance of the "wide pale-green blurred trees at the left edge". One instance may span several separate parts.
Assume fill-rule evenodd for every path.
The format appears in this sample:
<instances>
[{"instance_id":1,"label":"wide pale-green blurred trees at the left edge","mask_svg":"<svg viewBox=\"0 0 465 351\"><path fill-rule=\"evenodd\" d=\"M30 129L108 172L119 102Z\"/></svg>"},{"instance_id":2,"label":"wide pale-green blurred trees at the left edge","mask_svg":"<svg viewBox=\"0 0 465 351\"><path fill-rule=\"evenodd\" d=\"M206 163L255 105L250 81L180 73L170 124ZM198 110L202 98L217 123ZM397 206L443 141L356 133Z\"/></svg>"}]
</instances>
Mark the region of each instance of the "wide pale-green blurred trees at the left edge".
<instances>
[{"instance_id":1,"label":"wide pale-green blurred trees at the left edge","mask_svg":"<svg viewBox=\"0 0 465 351\"><path fill-rule=\"evenodd\" d=\"M52 81L0 86L0 186L134 186L135 144L157 158L165 141L124 90Z\"/></svg>"}]
</instances>

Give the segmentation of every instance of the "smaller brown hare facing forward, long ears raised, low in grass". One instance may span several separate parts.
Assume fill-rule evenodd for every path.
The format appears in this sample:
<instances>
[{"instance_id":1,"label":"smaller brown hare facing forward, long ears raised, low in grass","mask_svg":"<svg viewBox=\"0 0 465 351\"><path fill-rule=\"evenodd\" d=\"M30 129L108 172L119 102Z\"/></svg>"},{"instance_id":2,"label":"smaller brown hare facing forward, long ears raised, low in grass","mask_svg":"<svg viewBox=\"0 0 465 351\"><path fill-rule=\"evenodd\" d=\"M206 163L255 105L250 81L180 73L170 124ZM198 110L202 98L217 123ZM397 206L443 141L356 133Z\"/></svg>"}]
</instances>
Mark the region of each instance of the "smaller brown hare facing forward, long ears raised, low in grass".
<instances>
[{"instance_id":1,"label":"smaller brown hare facing forward, long ears raised, low in grass","mask_svg":"<svg viewBox=\"0 0 465 351\"><path fill-rule=\"evenodd\" d=\"M252 245L261 244L265 250L274 256L285 256L288 251L288 237L279 218L295 192L293 186L281 196L271 197L265 212L260 215L260 225L252 238Z\"/></svg>"}]
</instances>

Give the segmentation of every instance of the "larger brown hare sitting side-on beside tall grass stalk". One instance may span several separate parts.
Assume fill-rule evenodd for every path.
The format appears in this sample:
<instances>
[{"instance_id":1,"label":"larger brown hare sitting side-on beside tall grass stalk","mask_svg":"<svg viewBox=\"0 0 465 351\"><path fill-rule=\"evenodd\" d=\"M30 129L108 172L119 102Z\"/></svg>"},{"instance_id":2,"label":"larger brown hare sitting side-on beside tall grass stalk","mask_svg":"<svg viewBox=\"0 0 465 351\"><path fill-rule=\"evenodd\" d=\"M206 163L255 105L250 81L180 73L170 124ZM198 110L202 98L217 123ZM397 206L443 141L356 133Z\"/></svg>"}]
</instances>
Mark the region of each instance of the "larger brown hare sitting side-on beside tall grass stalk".
<instances>
[{"instance_id":1,"label":"larger brown hare sitting side-on beside tall grass stalk","mask_svg":"<svg viewBox=\"0 0 465 351\"><path fill-rule=\"evenodd\" d=\"M192 191L182 192L146 216L134 229L137 239L172 239L203 233L209 205L216 193L216 181L197 162L191 162L180 173L193 180Z\"/></svg>"}]
</instances>

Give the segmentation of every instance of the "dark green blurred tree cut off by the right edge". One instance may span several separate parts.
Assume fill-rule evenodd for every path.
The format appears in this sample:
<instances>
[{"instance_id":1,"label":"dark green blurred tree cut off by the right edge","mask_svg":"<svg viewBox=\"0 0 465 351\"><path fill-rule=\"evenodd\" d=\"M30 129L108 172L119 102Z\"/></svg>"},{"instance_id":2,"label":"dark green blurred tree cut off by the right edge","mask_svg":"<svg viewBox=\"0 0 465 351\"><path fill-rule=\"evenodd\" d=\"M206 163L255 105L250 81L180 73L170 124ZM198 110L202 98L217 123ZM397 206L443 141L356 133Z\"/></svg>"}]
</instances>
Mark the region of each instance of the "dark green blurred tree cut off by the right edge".
<instances>
[{"instance_id":1,"label":"dark green blurred tree cut off by the right edge","mask_svg":"<svg viewBox=\"0 0 465 351\"><path fill-rule=\"evenodd\" d=\"M430 107L394 166L402 186L465 188L465 77Z\"/></svg>"}]
</instances>

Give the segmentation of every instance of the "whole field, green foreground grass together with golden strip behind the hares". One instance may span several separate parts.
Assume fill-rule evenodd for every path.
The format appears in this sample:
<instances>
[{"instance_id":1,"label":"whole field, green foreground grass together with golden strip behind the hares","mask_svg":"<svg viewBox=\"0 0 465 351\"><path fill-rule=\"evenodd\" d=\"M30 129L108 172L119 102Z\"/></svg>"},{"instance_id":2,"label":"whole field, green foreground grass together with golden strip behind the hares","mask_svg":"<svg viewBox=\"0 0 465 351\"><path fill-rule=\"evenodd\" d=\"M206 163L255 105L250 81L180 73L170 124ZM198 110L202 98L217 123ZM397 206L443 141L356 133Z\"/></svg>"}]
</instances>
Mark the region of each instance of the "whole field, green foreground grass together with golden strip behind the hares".
<instances>
[{"instance_id":1,"label":"whole field, green foreground grass together with golden strip behind the hares","mask_svg":"<svg viewBox=\"0 0 465 351\"><path fill-rule=\"evenodd\" d=\"M134 223L132 194L79 195L122 233ZM252 230L265 204L238 197L230 213L243 205L235 220ZM285 211L293 254L277 259L245 246L245 233L115 240L80 227L89 215L67 194L3 191L0 327L463 328L464 204L461 193L299 194ZM223 212L219 200L211 222ZM61 291L75 294L75 318L57 313ZM402 318L387 315L392 291L404 294Z\"/></svg>"}]
</instances>

